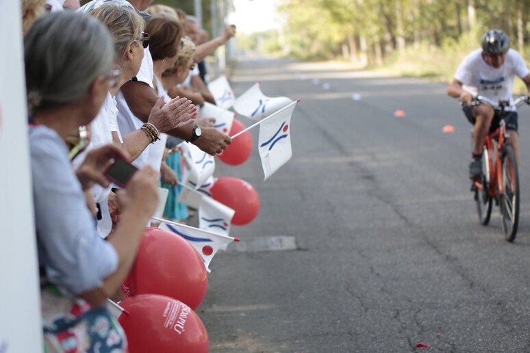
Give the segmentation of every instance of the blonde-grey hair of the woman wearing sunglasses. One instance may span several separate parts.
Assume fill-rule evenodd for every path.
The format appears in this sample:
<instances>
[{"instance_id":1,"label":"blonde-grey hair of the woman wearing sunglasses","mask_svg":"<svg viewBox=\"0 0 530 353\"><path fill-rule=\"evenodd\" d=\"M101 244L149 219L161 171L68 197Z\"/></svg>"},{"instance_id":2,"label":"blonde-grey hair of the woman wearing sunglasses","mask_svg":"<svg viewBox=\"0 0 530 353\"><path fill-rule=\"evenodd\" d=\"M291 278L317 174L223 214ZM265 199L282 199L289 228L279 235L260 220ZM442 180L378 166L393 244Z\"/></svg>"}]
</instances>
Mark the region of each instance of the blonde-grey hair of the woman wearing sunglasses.
<instances>
[{"instance_id":1,"label":"blonde-grey hair of the woman wearing sunglasses","mask_svg":"<svg viewBox=\"0 0 530 353\"><path fill-rule=\"evenodd\" d=\"M90 12L108 28L114 39L114 50L118 60L122 60L129 43L140 38L145 23L142 17L127 6L105 3Z\"/></svg>"}]
</instances>

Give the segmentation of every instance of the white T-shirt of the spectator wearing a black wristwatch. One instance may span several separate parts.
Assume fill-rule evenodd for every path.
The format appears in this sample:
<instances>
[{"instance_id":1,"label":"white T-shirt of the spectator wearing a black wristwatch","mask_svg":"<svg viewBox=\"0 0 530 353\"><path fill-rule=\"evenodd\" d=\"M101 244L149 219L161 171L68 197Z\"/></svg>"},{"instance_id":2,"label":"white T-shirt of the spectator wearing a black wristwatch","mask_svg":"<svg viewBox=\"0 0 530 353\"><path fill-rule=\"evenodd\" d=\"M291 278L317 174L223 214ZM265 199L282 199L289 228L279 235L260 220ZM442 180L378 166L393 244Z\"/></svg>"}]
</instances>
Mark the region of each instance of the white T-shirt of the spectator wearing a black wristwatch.
<instances>
[{"instance_id":1,"label":"white T-shirt of the spectator wearing a black wristwatch","mask_svg":"<svg viewBox=\"0 0 530 353\"><path fill-rule=\"evenodd\" d=\"M144 58L142 60L142 66L140 66L140 71L138 71L138 75L136 75L136 78L139 82L147 83L149 87L153 88L153 77L153 57L151 57L151 53L149 53L148 47L147 49L144 49ZM118 90L118 92L116 93L116 103L118 105L118 128L120 129L123 135L127 135L127 133L136 131L140 129L142 125L144 125L144 122L136 118L133 112L131 112L131 109L129 109L129 105L127 105L127 102L125 101L125 97L123 96L121 90ZM147 146L147 148L145 148L142 154L133 161L134 166L136 166L137 168L142 168L147 163L149 149L152 146L153 145L151 144Z\"/></svg>"}]
</instances>

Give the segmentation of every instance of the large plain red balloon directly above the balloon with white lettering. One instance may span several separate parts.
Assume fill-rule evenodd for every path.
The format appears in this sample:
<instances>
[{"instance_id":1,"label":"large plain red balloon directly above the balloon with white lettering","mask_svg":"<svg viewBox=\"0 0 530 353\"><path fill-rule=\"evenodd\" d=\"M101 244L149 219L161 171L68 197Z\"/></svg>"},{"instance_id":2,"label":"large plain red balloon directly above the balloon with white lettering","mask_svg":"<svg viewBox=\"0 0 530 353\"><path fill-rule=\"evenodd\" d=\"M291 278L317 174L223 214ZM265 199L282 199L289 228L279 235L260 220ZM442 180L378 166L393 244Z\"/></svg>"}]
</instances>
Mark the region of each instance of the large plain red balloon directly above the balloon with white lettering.
<instances>
[{"instance_id":1,"label":"large plain red balloon directly above the balloon with white lettering","mask_svg":"<svg viewBox=\"0 0 530 353\"><path fill-rule=\"evenodd\" d=\"M186 239L164 229L147 228L122 289L125 296L160 294L175 298L195 310L203 302L207 287L201 255Z\"/></svg>"}]
</instances>

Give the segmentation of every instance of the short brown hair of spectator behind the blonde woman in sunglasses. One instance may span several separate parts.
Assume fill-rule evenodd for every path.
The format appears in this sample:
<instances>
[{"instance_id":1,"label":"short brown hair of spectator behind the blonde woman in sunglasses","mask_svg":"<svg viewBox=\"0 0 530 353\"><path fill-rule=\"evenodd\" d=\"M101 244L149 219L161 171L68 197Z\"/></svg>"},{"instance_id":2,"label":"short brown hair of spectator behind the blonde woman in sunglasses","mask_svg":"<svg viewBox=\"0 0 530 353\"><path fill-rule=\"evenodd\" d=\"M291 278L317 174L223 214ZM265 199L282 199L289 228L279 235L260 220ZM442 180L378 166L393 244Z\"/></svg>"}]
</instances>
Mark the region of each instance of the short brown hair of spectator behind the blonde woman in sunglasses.
<instances>
[{"instance_id":1,"label":"short brown hair of spectator behind the blonde woman in sunglasses","mask_svg":"<svg viewBox=\"0 0 530 353\"><path fill-rule=\"evenodd\" d=\"M184 29L175 16L155 14L147 23L145 31L151 36L149 51L153 60L177 55Z\"/></svg>"}]
</instances>

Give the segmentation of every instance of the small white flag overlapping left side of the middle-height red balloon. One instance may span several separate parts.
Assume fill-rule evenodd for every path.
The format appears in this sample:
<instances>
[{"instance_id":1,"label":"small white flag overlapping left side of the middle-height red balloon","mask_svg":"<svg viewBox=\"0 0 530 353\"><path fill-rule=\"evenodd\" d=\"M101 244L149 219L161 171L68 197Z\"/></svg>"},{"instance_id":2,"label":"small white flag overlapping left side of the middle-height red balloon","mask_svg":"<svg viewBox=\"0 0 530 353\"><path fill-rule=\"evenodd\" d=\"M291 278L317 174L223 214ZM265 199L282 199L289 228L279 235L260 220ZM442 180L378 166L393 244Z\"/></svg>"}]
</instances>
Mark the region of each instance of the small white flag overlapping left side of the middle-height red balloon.
<instances>
[{"instance_id":1,"label":"small white flag overlapping left side of the middle-height red balloon","mask_svg":"<svg viewBox=\"0 0 530 353\"><path fill-rule=\"evenodd\" d=\"M235 211L210 197L203 197L199 207L199 228L229 235Z\"/></svg>"}]
</instances>

